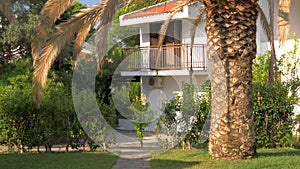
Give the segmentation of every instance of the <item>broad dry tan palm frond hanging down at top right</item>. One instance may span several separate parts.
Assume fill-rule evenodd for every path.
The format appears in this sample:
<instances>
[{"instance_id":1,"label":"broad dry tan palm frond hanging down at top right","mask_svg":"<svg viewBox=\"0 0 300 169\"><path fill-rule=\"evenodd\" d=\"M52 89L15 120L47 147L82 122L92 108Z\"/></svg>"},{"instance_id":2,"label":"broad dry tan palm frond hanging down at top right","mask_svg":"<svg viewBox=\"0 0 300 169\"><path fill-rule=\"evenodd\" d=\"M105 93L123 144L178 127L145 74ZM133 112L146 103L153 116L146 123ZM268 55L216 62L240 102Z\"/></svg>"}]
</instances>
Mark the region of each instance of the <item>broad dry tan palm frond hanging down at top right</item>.
<instances>
[{"instance_id":1,"label":"broad dry tan palm frond hanging down at top right","mask_svg":"<svg viewBox=\"0 0 300 169\"><path fill-rule=\"evenodd\" d=\"M277 37L280 46L283 46L290 33L290 13L291 0L279 0L279 15L277 23Z\"/></svg>"}]
</instances>

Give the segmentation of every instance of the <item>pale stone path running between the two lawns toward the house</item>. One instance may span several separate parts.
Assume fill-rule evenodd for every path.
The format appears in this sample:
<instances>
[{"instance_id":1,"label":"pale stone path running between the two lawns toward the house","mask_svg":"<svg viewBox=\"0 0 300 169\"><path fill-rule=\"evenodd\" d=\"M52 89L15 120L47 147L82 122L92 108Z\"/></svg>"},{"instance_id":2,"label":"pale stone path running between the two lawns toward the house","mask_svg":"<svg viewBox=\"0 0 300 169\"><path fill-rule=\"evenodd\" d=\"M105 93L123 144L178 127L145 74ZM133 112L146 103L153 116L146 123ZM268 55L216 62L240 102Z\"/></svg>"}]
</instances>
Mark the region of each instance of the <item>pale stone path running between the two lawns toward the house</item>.
<instances>
[{"instance_id":1,"label":"pale stone path running between the two lawns toward the house","mask_svg":"<svg viewBox=\"0 0 300 169\"><path fill-rule=\"evenodd\" d=\"M144 147L135 139L133 131L120 131L116 136L117 145L111 147L111 152L119 154L112 169L149 169L153 152L160 150L156 138L151 133L145 133Z\"/></svg>"}]
</instances>

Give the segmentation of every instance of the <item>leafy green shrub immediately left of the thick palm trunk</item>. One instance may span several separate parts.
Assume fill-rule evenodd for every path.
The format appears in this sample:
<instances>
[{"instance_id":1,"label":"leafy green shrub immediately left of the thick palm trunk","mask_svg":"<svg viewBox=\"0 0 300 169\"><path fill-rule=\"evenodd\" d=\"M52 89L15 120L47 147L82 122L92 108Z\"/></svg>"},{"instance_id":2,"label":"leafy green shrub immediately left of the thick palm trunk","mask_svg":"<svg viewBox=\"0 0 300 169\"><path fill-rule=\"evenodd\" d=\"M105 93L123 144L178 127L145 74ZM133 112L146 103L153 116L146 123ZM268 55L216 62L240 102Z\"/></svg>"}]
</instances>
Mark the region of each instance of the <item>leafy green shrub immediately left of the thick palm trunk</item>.
<instances>
[{"instance_id":1,"label":"leafy green shrub immediately left of the thick palm trunk","mask_svg":"<svg viewBox=\"0 0 300 169\"><path fill-rule=\"evenodd\" d=\"M167 136L171 137L172 147L176 140L187 142L189 148L191 144L199 144L199 139L204 134L202 129L210 111L210 102L209 82L198 89L194 85L184 84L182 96L175 94L164 103L162 115L157 121L156 133L164 132L165 129Z\"/></svg>"}]
</instances>

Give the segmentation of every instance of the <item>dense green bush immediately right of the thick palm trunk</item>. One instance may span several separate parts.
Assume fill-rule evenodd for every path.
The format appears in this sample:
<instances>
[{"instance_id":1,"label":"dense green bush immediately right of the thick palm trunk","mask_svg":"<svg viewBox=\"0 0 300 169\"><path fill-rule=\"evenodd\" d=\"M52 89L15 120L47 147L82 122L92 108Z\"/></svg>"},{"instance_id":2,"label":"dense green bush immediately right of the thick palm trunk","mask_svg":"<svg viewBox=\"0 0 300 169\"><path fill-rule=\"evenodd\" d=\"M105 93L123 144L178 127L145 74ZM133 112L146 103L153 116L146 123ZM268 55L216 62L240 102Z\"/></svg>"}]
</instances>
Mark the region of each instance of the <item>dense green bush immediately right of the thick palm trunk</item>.
<instances>
[{"instance_id":1,"label":"dense green bush immediately right of the thick palm trunk","mask_svg":"<svg viewBox=\"0 0 300 169\"><path fill-rule=\"evenodd\" d=\"M289 146L295 98L285 83L253 85L254 125L258 147Z\"/></svg>"}]
</instances>

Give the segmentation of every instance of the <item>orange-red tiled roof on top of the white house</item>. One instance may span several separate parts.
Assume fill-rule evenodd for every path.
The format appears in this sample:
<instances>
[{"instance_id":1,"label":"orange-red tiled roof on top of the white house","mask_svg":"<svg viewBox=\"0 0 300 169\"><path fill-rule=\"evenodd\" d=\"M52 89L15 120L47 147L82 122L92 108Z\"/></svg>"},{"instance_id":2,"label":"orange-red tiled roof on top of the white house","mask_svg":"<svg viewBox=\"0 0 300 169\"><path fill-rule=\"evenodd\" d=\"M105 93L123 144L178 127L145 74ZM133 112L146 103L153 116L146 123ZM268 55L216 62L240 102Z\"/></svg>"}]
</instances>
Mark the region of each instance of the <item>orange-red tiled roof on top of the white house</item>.
<instances>
[{"instance_id":1,"label":"orange-red tiled roof on top of the white house","mask_svg":"<svg viewBox=\"0 0 300 169\"><path fill-rule=\"evenodd\" d=\"M150 16L150 15L157 15L157 14L164 14L164 13L170 13L172 12L172 9L174 7L182 4L183 2L186 2L187 0L172 0L172 1L167 1L163 2L154 6L150 6L147 8L143 8L134 12L131 12L129 14L124 15L123 19L132 19L132 18L138 18L138 17L143 17L143 16ZM181 9L183 11L183 8Z\"/></svg>"}]
</instances>

